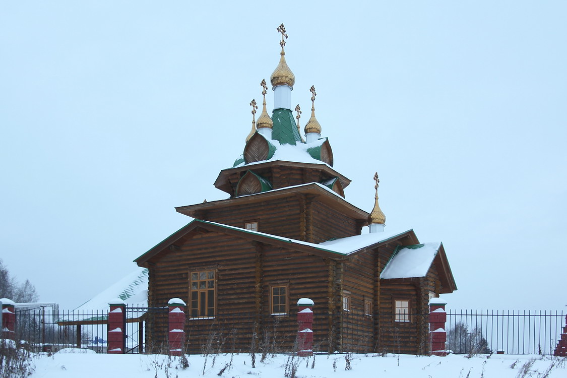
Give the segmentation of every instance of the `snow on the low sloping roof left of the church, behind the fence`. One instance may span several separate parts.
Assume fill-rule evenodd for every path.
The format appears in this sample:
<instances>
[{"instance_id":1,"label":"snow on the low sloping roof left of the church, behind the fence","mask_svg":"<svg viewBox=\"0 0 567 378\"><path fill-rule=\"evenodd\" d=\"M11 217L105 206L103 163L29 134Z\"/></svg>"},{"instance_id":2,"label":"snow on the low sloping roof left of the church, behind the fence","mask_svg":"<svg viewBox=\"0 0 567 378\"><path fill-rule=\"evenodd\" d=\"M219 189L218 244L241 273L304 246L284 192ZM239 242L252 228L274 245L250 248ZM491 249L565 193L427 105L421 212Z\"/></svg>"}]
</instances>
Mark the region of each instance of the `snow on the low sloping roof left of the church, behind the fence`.
<instances>
[{"instance_id":1,"label":"snow on the low sloping roof left of the church, behind the fence","mask_svg":"<svg viewBox=\"0 0 567 378\"><path fill-rule=\"evenodd\" d=\"M147 306L147 268L139 268L111 285L94 298L87 300L74 311L108 309L108 304L120 298L127 305Z\"/></svg>"}]
</instances>

